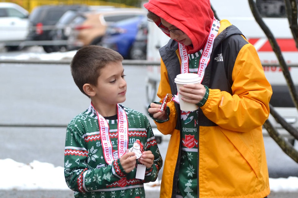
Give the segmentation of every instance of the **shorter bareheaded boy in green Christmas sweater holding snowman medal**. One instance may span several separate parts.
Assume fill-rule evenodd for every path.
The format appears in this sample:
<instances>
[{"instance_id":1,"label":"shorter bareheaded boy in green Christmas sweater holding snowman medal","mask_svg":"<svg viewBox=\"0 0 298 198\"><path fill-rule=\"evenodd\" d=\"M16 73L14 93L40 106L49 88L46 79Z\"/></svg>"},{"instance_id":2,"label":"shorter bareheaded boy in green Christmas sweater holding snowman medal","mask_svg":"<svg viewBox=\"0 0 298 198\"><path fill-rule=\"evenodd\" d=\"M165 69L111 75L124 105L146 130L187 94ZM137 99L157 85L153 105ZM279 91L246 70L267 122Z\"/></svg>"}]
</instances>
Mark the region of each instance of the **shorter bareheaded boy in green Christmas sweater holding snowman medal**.
<instances>
[{"instance_id":1,"label":"shorter bareheaded boy in green Christmas sweater holding snowman medal","mask_svg":"<svg viewBox=\"0 0 298 198\"><path fill-rule=\"evenodd\" d=\"M114 50L90 45L70 64L75 84L91 99L66 131L64 174L75 197L145 197L143 183L155 181L162 166L148 118L119 104L127 85L122 60ZM134 143L142 155L131 152Z\"/></svg>"}]
</instances>

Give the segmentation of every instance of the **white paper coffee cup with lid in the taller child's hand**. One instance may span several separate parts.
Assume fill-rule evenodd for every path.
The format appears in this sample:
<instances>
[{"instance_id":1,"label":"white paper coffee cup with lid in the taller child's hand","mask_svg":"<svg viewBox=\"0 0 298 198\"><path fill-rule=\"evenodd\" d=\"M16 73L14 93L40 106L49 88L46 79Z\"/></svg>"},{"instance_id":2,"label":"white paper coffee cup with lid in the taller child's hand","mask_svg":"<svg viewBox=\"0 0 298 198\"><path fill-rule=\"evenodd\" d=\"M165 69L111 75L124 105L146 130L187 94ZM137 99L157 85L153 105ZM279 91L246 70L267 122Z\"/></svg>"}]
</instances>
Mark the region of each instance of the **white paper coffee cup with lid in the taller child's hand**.
<instances>
[{"instance_id":1,"label":"white paper coffee cup with lid in the taller child's hand","mask_svg":"<svg viewBox=\"0 0 298 198\"><path fill-rule=\"evenodd\" d=\"M177 85L177 91L179 92L179 87L183 86L183 84L200 84L200 77L198 74L194 73L178 74L175 78L175 83ZM180 110L194 111L198 109L198 105L183 101L180 94L178 94L178 97L180 102Z\"/></svg>"}]
</instances>

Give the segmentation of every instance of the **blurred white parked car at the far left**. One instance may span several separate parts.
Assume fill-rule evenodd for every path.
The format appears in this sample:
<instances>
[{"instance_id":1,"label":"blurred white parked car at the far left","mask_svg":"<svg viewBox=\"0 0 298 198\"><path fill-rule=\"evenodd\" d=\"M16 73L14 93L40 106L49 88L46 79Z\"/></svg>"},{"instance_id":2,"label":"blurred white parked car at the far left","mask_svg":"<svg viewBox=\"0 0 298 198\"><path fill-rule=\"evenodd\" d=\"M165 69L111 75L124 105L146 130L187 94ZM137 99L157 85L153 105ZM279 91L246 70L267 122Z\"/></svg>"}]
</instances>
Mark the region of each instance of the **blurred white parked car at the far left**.
<instances>
[{"instance_id":1,"label":"blurred white parked car at the far left","mask_svg":"<svg viewBox=\"0 0 298 198\"><path fill-rule=\"evenodd\" d=\"M15 50L26 40L29 12L15 3L0 2L0 43Z\"/></svg>"}]
</instances>

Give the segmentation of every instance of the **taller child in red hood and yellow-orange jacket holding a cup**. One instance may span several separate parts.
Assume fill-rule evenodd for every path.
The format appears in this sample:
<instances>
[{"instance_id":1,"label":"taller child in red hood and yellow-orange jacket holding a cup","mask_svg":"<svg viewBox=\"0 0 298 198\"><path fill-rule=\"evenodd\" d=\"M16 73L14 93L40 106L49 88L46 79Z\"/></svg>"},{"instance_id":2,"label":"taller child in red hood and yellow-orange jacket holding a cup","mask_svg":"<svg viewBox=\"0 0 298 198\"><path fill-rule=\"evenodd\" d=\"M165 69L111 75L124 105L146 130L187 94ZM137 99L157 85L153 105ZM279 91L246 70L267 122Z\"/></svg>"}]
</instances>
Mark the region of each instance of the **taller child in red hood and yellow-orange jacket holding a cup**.
<instances>
[{"instance_id":1,"label":"taller child in red hood and yellow-orange jacket holding a cup","mask_svg":"<svg viewBox=\"0 0 298 198\"><path fill-rule=\"evenodd\" d=\"M179 94L197 105L169 102L148 112L171 134L160 198L264 198L270 193L262 125L272 88L240 30L214 18L210 0L149 0L148 18L171 39L160 48L160 100ZM196 73L200 84L177 90L174 79Z\"/></svg>"}]
</instances>

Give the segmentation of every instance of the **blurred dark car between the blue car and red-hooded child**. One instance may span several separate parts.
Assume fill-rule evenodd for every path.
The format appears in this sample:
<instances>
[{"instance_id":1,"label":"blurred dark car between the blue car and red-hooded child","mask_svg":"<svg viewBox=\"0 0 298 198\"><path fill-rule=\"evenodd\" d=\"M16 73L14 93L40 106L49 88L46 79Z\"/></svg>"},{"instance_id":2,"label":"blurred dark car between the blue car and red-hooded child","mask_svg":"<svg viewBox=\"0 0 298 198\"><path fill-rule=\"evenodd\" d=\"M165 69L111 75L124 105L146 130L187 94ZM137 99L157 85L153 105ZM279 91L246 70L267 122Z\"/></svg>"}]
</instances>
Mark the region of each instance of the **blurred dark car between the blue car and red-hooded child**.
<instances>
[{"instance_id":1,"label":"blurred dark car between the blue car and red-hooded child","mask_svg":"<svg viewBox=\"0 0 298 198\"><path fill-rule=\"evenodd\" d=\"M138 32L130 50L130 58L134 60L147 59L148 19L142 19Z\"/></svg>"}]
</instances>

